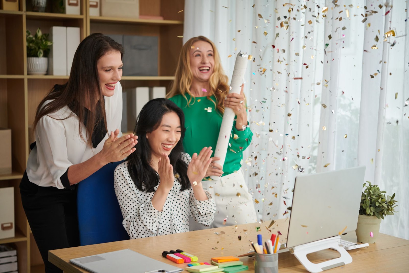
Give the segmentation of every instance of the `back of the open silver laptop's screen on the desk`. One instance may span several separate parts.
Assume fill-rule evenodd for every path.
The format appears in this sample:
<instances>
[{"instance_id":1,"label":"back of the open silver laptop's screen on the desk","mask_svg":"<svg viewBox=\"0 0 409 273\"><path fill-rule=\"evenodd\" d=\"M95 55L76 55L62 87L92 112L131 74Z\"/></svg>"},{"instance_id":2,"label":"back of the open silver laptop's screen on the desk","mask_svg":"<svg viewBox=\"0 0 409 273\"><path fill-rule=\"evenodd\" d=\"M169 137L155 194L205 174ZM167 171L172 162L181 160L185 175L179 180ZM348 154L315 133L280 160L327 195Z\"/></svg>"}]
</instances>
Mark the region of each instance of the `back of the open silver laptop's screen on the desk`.
<instances>
[{"instance_id":1,"label":"back of the open silver laptop's screen on the desk","mask_svg":"<svg viewBox=\"0 0 409 273\"><path fill-rule=\"evenodd\" d=\"M365 166L295 178L287 250L356 230Z\"/></svg>"}]
</instances>

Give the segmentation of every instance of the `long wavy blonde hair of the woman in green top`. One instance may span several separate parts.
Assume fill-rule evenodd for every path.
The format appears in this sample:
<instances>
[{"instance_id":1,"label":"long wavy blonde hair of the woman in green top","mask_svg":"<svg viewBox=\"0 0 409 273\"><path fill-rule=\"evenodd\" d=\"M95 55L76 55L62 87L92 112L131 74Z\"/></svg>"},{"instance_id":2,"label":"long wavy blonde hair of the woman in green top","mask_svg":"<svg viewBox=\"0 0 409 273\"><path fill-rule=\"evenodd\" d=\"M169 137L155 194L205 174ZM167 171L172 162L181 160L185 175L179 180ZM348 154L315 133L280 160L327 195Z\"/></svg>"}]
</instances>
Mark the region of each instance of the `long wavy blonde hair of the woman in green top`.
<instances>
[{"instance_id":1,"label":"long wavy blonde hair of the woman in green top","mask_svg":"<svg viewBox=\"0 0 409 273\"><path fill-rule=\"evenodd\" d=\"M173 96L181 94L186 99L188 106L193 104L196 100L196 97L193 96L190 91L193 81L193 73L190 67L189 52L191 46L193 46L193 43L196 43L197 41L207 42L213 48L214 66L213 73L209 78L210 90L207 90L207 99L211 100L214 103L215 108L218 109L221 114L224 114L224 101L227 94L229 93L229 85L227 84L228 77L225 75L222 65L220 64L220 55L217 51L216 46L205 36L193 37L182 46L182 50L180 51L179 55L178 66L176 67L175 79L172 82L171 91L169 91L169 93L166 95L166 98L171 98ZM186 93L188 93L191 97L189 100L186 97ZM216 101L210 98L212 95L216 97Z\"/></svg>"}]
</instances>

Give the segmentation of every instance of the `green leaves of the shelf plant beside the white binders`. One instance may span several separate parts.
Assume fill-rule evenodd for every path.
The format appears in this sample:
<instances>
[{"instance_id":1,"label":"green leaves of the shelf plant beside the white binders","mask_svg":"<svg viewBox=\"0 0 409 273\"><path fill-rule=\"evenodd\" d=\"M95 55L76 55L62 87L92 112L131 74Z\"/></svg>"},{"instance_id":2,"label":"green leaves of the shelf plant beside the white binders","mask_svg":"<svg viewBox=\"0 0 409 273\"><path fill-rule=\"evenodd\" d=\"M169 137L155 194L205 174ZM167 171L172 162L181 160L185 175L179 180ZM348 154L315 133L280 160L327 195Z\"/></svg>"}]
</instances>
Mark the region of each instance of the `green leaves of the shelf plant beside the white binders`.
<instances>
[{"instance_id":1,"label":"green leaves of the shelf plant beside the white binders","mask_svg":"<svg viewBox=\"0 0 409 273\"><path fill-rule=\"evenodd\" d=\"M40 28L37 29L36 34L31 35L31 32L26 32L27 41L27 57L48 57L52 41L48 40L48 34L42 33Z\"/></svg>"}]
</instances>

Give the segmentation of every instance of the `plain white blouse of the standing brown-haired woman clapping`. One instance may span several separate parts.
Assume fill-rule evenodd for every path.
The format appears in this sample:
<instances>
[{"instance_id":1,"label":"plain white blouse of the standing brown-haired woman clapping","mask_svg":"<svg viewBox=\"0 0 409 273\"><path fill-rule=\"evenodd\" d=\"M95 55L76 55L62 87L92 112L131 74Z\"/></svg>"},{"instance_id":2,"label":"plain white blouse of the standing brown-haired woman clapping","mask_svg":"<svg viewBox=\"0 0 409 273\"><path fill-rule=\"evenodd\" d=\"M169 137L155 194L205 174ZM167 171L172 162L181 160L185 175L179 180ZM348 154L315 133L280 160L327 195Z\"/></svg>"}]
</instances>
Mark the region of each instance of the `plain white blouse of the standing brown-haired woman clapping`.
<instances>
[{"instance_id":1,"label":"plain white blouse of the standing brown-haired woman clapping","mask_svg":"<svg viewBox=\"0 0 409 273\"><path fill-rule=\"evenodd\" d=\"M44 105L49 103L47 100ZM108 132L121 130L122 119L122 87L119 82L115 85L114 95L105 97L105 111ZM103 144L108 139L104 136L97 148L90 147L79 136L79 118L72 114L68 106L43 116L36 126L36 146L31 150L27 161L27 176L30 182L41 187L56 187L64 189L61 183L68 167L82 163L102 150ZM82 123L82 122L81 122ZM82 135L87 135L82 124ZM122 134L120 133L119 136Z\"/></svg>"}]
</instances>

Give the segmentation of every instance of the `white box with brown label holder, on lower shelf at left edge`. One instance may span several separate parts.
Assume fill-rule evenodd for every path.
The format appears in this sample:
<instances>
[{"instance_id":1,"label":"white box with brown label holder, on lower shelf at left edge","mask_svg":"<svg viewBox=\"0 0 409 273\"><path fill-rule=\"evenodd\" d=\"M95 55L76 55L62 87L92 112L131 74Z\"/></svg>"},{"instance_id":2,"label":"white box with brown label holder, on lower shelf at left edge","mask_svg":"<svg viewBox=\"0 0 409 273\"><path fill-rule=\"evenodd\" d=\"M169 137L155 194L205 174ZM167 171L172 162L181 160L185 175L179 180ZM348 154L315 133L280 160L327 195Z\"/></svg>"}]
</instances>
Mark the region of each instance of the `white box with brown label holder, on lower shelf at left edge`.
<instances>
[{"instance_id":1,"label":"white box with brown label holder, on lower shelf at left edge","mask_svg":"<svg viewBox=\"0 0 409 273\"><path fill-rule=\"evenodd\" d=\"M11 237L14 237L14 188L0 188L0 239Z\"/></svg>"}]
</instances>

